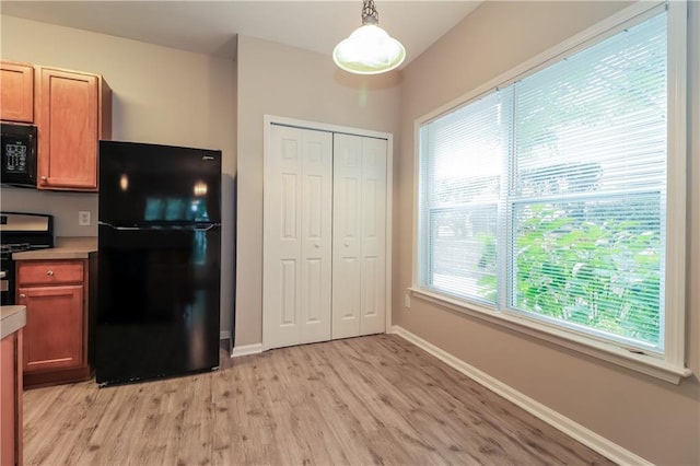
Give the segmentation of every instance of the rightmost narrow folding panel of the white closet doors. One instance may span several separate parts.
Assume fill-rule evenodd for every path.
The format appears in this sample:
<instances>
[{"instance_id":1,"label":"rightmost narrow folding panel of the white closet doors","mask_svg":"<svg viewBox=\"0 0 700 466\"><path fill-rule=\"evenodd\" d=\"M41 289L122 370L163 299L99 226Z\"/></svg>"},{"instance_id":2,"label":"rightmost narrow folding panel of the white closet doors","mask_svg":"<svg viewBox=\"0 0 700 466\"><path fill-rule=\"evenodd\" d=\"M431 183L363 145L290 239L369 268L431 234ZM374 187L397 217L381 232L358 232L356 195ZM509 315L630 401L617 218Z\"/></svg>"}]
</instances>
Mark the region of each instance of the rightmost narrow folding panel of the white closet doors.
<instances>
[{"instance_id":1,"label":"rightmost narrow folding panel of the white closet doors","mask_svg":"<svg viewBox=\"0 0 700 466\"><path fill-rule=\"evenodd\" d=\"M360 335L385 330L386 150L386 140L362 138Z\"/></svg>"}]
</instances>

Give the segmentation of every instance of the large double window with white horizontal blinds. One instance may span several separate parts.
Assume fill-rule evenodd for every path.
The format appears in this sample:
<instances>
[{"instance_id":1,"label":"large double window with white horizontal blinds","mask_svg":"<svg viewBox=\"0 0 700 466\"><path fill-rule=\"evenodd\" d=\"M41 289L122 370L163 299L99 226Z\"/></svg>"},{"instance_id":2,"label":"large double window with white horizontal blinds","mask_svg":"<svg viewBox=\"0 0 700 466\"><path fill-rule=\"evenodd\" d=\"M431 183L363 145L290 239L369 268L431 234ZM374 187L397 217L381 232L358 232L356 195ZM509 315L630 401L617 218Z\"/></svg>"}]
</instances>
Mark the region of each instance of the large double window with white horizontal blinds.
<instances>
[{"instance_id":1,"label":"large double window with white horizontal blinds","mask_svg":"<svg viewBox=\"0 0 700 466\"><path fill-rule=\"evenodd\" d=\"M669 8L420 125L417 292L682 365Z\"/></svg>"}]
</instances>

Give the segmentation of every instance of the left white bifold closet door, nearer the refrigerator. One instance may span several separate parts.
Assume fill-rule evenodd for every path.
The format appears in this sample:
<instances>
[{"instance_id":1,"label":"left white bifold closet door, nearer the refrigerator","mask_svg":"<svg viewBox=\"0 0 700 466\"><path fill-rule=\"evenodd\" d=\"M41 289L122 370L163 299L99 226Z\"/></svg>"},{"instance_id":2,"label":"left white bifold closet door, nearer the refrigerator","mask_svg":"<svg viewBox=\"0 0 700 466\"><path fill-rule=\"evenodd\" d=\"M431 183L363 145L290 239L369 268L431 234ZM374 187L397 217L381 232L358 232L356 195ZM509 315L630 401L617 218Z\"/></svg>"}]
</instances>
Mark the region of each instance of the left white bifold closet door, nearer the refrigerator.
<instances>
[{"instance_id":1,"label":"left white bifold closet door, nearer the refrigerator","mask_svg":"<svg viewBox=\"0 0 700 466\"><path fill-rule=\"evenodd\" d=\"M332 136L272 125L265 161L262 341L330 339Z\"/></svg>"}]
</instances>

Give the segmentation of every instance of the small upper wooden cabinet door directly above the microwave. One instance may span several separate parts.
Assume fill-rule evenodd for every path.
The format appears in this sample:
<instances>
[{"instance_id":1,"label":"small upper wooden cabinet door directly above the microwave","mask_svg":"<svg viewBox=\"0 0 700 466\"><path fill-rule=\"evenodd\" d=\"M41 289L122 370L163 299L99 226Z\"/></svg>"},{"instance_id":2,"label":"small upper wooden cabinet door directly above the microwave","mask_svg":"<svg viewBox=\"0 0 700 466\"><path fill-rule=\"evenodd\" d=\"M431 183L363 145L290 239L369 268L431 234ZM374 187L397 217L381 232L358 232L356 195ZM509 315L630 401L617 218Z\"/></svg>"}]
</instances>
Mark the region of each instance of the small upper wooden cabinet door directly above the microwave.
<instances>
[{"instance_id":1,"label":"small upper wooden cabinet door directly above the microwave","mask_svg":"<svg viewBox=\"0 0 700 466\"><path fill-rule=\"evenodd\" d=\"M34 123L34 68L0 62L0 119Z\"/></svg>"}]
</instances>

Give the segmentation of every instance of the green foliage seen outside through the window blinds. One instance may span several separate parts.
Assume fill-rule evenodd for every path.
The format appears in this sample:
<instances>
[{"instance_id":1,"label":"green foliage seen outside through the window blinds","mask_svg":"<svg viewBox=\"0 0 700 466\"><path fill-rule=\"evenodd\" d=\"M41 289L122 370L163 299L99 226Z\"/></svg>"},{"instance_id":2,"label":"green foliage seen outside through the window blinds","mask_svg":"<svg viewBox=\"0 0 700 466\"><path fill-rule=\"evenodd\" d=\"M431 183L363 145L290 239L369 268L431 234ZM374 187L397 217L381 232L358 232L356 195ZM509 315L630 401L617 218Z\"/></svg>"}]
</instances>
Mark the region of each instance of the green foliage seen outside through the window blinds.
<instances>
[{"instance_id":1,"label":"green foliage seen outside through the window blinds","mask_svg":"<svg viewBox=\"0 0 700 466\"><path fill-rule=\"evenodd\" d=\"M550 203L521 209L511 305L658 345L658 228L640 219L604 218L596 209ZM493 237L482 242L483 268L495 267ZM479 284L495 295L494 278Z\"/></svg>"}]
</instances>

